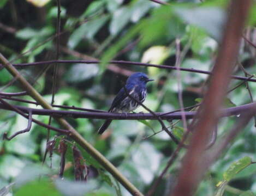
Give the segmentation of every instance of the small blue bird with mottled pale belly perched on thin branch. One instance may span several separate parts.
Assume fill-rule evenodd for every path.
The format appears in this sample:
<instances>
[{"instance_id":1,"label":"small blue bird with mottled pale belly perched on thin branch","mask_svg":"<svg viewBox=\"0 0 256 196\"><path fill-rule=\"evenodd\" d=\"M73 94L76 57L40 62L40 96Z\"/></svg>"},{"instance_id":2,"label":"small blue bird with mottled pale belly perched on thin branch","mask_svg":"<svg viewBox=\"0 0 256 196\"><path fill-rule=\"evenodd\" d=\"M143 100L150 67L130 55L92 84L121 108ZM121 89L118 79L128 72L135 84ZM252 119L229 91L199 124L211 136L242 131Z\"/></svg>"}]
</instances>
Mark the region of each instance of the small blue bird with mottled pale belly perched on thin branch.
<instances>
[{"instance_id":1,"label":"small blue bird with mottled pale belly perched on thin branch","mask_svg":"<svg viewBox=\"0 0 256 196\"><path fill-rule=\"evenodd\" d=\"M134 99L144 102L147 95L146 84L153 81L149 79L146 74L135 72L126 81L125 88L122 88L116 95L112 102L109 112L122 113L130 112L138 108L140 105L135 100L131 99L127 94L134 97ZM108 119L99 128L98 133L102 134L110 125L111 119Z\"/></svg>"}]
</instances>

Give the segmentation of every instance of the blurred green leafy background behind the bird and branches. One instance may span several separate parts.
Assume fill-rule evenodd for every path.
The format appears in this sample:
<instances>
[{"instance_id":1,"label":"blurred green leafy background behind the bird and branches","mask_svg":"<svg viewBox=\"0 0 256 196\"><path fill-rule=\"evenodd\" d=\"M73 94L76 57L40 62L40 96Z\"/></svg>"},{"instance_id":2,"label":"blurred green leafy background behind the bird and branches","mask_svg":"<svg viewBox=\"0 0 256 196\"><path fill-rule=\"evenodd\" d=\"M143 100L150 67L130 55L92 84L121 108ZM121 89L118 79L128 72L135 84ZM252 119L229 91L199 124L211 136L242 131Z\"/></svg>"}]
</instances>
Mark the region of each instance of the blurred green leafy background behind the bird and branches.
<instances>
[{"instance_id":1,"label":"blurred green leafy background behind the bird and branches","mask_svg":"<svg viewBox=\"0 0 256 196\"><path fill-rule=\"evenodd\" d=\"M217 56L229 1L168 1L163 6L147 0L61 0L61 36L59 59L103 60L101 64L59 64L56 105L108 110L128 75L145 72L154 82L148 83L144 102L155 112L169 112L180 108L178 103L177 71L146 68L135 65L108 65L111 59L152 64L175 65L175 40L181 41L181 67L210 71ZM39 4L41 3L39 7ZM244 34L249 40L256 37L256 6L253 5ZM56 58L57 4L56 1L0 1L0 52L12 63L32 63ZM39 46L40 45L40 46ZM28 51L28 52L27 52ZM27 53L25 53L27 52ZM25 53L25 54L22 54ZM22 56L20 56L22 54ZM237 61L254 74L256 51L245 40ZM52 66L53 67L53 66ZM34 87L51 102L52 67L39 76L45 65L19 69L34 83ZM237 64L234 75L244 76ZM35 82L35 78L38 79ZM4 69L0 71L1 91L22 91L19 83L6 87L12 79ZM231 81L235 87L240 81ZM197 103L206 90L207 75L181 72L184 106ZM249 83L252 94L256 83ZM19 97L31 100L29 96ZM227 107L251 102L245 85L228 95L233 102ZM14 105L37 107L32 104L9 101ZM39 106L37 108L40 108ZM56 108L57 109L57 108ZM135 112L146 112L143 108ZM47 124L49 117L33 115ZM234 125L239 117L223 118L218 125L217 140ZM158 121L115 120L108 131L98 136L103 120L67 119L79 133L108 158L142 193L146 193L165 167L176 148ZM170 122L165 122L166 126ZM57 126L55 121L53 126ZM14 112L1 110L0 135L20 131L27 120ZM181 137L182 123L177 122L172 132ZM90 173L87 182L74 181L71 145L66 157L64 180L57 179L60 156L57 150L52 159L47 157L41 167L46 128L33 124L32 130L11 141L0 142L0 195L129 195L84 150L81 150ZM256 167L246 164L248 157L256 161L256 130L253 120L235 139L229 149L213 164L195 195L255 195ZM56 132L51 131L53 138ZM59 141L59 138L57 139ZM200 142L200 141L199 141ZM58 142L57 142L58 143ZM57 145L56 145L57 147ZM181 150L154 195L167 195L175 185L185 150ZM246 157L246 158L244 158ZM236 161L246 164L237 175L225 178L228 168ZM238 162L239 163L239 162ZM52 167L50 168L52 164ZM233 165L232 165L233 164ZM236 163L237 164L237 163ZM232 173L232 172L231 172ZM234 171L233 171L234 173ZM38 175L40 174L40 180ZM226 176L227 177L227 176ZM227 180L228 179L228 180ZM224 181L226 180L226 181ZM224 181L221 186L216 185ZM15 185L11 183L15 182ZM223 192L222 192L223 191ZM245 192L247 191L247 192ZM6 193L6 194L5 194Z\"/></svg>"}]
</instances>

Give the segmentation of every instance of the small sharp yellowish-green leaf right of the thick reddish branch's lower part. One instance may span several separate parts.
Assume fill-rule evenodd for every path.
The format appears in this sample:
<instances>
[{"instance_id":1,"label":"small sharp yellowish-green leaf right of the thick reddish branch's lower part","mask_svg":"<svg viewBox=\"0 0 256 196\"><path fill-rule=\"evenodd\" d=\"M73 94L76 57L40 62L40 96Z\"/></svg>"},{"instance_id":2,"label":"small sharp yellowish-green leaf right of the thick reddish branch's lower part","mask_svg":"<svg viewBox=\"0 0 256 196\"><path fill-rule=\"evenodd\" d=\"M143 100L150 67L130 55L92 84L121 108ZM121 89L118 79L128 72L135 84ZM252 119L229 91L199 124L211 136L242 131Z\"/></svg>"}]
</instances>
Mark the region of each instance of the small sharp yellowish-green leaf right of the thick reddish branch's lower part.
<instances>
[{"instance_id":1,"label":"small sharp yellowish-green leaf right of the thick reddish branch's lower part","mask_svg":"<svg viewBox=\"0 0 256 196\"><path fill-rule=\"evenodd\" d=\"M230 181L237 173L241 172L242 169L245 169L251 163L251 158L248 156L243 157L239 161L232 163L231 166L229 166L229 168L227 169L227 171L223 173L224 179Z\"/></svg>"}]
</instances>

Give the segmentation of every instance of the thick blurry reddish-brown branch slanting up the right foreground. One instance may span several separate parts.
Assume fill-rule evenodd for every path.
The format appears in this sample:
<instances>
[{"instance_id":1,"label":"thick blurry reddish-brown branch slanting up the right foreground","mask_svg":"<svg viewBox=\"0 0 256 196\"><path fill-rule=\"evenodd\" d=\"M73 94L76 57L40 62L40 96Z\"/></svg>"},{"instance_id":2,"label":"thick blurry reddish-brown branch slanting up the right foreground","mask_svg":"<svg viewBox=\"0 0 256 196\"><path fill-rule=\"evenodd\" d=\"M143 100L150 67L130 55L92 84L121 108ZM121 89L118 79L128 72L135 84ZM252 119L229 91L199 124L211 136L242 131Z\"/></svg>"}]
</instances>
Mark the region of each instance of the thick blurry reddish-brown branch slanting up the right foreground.
<instances>
[{"instance_id":1,"label":"thick blurry reddish-brown branch slanting up the right foreground","mask_svg":"<svg viewBox=\"0 0 256 196\"><path fill-rule=\"evenodd\" d=\"M184 156L177 185L171 195L193 195L207 169L204 166L207 157L203 156L206 140L219 119L219 108L221 108L223 98L227 93L231 71L239 51L242 29L245 26L250 5L250 0L231 1L230 14L223 30L222 44L212 71L211 83L194 118L191 148Z\"/></svg>"}]
</instances>

